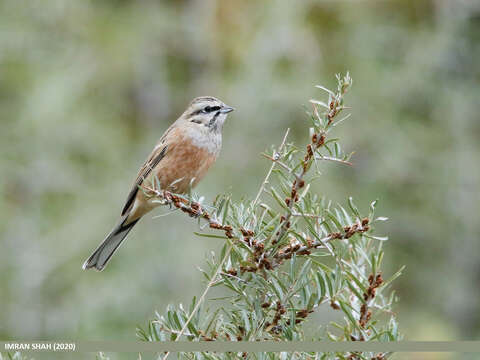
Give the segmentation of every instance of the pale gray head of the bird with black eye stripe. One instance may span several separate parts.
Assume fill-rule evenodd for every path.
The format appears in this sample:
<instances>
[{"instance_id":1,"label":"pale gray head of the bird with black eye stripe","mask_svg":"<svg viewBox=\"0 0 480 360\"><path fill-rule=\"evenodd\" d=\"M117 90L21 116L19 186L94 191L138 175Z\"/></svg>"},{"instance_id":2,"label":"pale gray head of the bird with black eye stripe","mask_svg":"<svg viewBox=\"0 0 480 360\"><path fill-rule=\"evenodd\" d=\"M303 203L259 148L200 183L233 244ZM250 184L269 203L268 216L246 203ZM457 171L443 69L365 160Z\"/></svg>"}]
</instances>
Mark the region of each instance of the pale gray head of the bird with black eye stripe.
<instances>
[{"instance_id":1,"label":"pale gray head of the bird with black eye stripe","mask_svg":"<svg viewBox=\"0 0 480 360\"><path fill-rule=\"evenodd\" d=\"M227 114L234 109L212 96L201 96L192 100L182 117L192 124L221 131Z\"/></svg>"}]
</instances>

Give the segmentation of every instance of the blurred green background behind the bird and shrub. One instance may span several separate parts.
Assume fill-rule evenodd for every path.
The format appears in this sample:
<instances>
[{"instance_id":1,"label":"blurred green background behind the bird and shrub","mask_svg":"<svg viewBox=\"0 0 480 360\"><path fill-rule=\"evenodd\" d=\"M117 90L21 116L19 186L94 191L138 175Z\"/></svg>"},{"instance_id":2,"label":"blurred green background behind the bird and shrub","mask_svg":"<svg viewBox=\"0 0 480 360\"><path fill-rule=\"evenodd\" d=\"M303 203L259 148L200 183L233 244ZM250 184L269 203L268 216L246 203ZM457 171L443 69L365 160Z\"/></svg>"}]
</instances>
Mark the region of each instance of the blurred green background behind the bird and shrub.
<instances>
[{"instance_id":1,"label":"blurred green background behind the bird and shrub","mask_svg":"<svg viewBox=\"0 0 480 360\"><path fill-rule=\"evenodd\" d=\"M347 70L338 135L355 165L325 164L316 190L380 199L387 269L407 265L407 339L478 339L474 0L1 0L0 338L134 340L155 310L189 303L220 242L178 213L147 216L106 271L81 270L157 138L195 96L234 106L197 191L253 197L259 154L287 127L305 143L313 85Z\"/></svg>"}]
</instances>

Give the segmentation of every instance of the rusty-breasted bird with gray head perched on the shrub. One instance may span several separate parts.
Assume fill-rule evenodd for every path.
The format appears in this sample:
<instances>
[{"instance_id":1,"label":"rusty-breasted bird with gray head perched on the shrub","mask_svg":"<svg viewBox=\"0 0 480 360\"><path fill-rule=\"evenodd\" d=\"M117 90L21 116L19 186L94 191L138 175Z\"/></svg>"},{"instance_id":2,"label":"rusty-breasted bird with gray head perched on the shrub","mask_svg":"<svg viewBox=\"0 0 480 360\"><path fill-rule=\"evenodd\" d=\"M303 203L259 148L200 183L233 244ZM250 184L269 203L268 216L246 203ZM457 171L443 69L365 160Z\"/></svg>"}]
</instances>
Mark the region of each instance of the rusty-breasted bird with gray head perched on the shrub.
<instances>
[{"instance_id":1,"label":"rusty-breasted bird with gray head perched on the shrub","mask_svg":"<svg viewBox=\"0 0 480 360\"><path fill-rule=\"evenodd\" d=\"M141 217L160 205L142 191L142 185L159 182L162 190L176 194L184 194L197 185L220 153L223 125L233 110L212 96L190 102L140 168L118 223L83 263L84 270L102 271Z\"/></svg>"}]
</instances>

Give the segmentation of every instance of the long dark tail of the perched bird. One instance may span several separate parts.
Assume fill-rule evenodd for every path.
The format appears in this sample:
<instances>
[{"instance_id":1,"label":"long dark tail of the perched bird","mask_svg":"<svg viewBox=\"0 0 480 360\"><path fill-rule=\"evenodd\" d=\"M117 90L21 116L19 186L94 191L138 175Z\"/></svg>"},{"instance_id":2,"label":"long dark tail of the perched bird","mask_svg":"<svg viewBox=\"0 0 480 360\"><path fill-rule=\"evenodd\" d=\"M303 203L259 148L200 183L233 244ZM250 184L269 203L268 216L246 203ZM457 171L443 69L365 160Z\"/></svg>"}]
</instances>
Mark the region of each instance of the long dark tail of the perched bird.
<instances>
[{"instance_id":1,"label":"long dark tail of the perched bird","mask_svg":"<svg viewBox=\"0 0 480 360\"><path fill-rule=\"evenodd\" d=\"M112 229L100 246L83 263L83 270L95 268L98 271L102 271L105 268L105 265L107 265L115 250L118 249L130 230L132 230L138 220L140 220L137 219L125 225L127 217L128 216L122 217L120 222Z\"/></svg>"}]
</instances>

